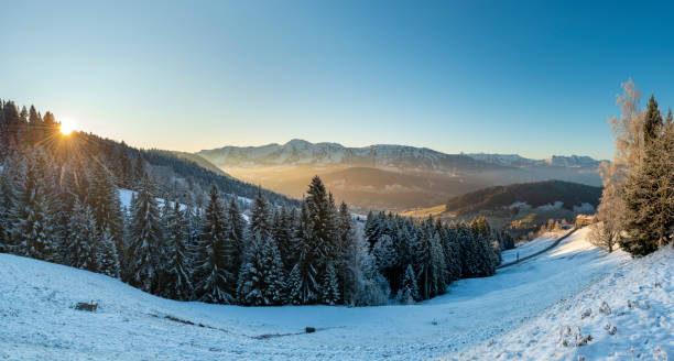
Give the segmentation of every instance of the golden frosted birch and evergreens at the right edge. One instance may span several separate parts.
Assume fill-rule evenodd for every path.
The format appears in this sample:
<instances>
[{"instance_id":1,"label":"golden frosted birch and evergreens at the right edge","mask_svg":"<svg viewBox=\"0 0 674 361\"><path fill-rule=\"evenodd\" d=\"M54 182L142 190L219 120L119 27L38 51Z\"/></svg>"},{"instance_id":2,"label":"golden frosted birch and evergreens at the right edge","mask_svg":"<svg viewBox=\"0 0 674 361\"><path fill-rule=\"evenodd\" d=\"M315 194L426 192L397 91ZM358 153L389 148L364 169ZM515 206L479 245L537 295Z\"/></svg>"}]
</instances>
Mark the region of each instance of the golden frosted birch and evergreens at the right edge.
<instances>
[{"instance_id":1,"label":"golden frosted birch and evergreens at the right edge","mask_svg":"<svg viewBox=\"0 0 674 361\"><path fill-rule=\"evenodd\" d=\"M600 223L591 239L609 252L619 244L645 255L672 242L674 233L674 122L653 96L640 108L641 92L631 79L622 86L622 113L610 120L616 154L602 164Z\"/></svg>"}]
</instances>

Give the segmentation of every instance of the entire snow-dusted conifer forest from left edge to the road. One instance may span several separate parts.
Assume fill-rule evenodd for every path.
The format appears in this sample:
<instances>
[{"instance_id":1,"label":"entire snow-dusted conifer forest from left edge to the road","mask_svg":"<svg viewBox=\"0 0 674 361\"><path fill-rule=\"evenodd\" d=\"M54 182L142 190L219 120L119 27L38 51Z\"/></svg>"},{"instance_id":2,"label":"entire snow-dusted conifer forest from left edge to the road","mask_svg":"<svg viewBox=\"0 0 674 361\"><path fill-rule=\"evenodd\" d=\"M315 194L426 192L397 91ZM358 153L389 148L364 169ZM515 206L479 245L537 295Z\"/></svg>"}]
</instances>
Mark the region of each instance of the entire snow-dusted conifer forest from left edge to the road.
<instances>
[{"instance_id":1,"label":"entire snow-dusted conifer forest from left edge to the road","mask_svg":"<svg viewBox=\"0 0 674 361\"><path fill-rule=\"evenodd\" d=\"M160 171L178 161L90 134L65 136L48 113L2 106L2 252L163 297L250 306L379 305L391 295L411 303L455 280L492 275L500 262L502 234L483 218L447 225L370 214L363 236L317 176L302 201L271 203L258 188L248 205L218 182L198 195L203 178L191 177L189 164L172 173L184 184L160 187ZM120 187L134 190L129 207Z\"/></svg>"}]
</instances>

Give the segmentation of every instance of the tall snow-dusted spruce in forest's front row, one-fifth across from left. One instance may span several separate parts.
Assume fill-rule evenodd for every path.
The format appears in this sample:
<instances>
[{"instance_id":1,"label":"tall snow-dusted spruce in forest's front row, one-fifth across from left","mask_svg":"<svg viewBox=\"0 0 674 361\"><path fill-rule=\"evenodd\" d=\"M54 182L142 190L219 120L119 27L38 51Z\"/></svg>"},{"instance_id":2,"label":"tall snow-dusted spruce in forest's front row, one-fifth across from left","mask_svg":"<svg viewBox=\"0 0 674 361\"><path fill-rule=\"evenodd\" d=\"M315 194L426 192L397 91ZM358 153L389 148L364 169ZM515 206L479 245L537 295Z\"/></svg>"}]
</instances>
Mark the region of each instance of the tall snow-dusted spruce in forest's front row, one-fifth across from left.
<instances>
[{"instance_id":1,"label":"tall snow-dusted spruce in forest's front row, one-fifth across from left","mask_svg":"<svg viewBox=\"0 0 674 361\"><path fill-rule=\"evenodd\" d=\"M131 201L129 230L129 284L152 292L157 288L160 254L163 244L162 219L155 199L155 188L148 176L139 184L138 196Z\"/></svg>"}]
</instances>

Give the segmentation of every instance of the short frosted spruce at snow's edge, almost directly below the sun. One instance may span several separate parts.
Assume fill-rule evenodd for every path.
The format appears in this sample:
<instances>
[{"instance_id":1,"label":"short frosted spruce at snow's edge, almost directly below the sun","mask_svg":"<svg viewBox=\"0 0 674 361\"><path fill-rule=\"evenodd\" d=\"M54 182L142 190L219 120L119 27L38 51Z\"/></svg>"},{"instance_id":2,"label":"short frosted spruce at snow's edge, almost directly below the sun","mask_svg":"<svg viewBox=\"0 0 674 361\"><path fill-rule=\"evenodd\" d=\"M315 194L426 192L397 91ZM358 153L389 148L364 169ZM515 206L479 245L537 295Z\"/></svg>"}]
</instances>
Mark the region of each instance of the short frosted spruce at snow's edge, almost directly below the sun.
<instances>
[{"instance_id":1,"label":"short frosted spruce at snow's edge, almost directly below the sun","mask_svg":"<svg viewBox=\"0 0 674 361\"><path fill-rule=\"evenodd\" d=\"M97 272L96 245L98 232L91 208L77 200L73 207L68 228L70 232L66 240L67 264L73 267Z\"/></svg>"}]
</instances>

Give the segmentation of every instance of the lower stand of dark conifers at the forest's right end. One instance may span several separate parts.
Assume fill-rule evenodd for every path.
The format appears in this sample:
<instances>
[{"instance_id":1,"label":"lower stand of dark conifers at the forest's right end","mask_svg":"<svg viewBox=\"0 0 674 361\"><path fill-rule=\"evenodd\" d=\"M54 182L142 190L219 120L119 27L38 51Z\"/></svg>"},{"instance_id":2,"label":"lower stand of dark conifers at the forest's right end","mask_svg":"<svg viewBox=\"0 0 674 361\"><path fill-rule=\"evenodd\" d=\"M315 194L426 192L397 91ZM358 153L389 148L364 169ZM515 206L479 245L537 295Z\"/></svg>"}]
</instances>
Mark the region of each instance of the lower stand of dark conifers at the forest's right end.
<instances>
[{"instance_id":1,"label":"lower stand of dark conifers at the forest's right end","mask_svg":"<svg viewBox=\"0 0 674 361\"><path fill-rule=\"evenodd\" d=\"M485 218L447 223L384 212L368 215L365 237L379 272L403 303L443 294L459 278L493 275L500 250L512 243Z\"/></svg>"}]
</instances>

